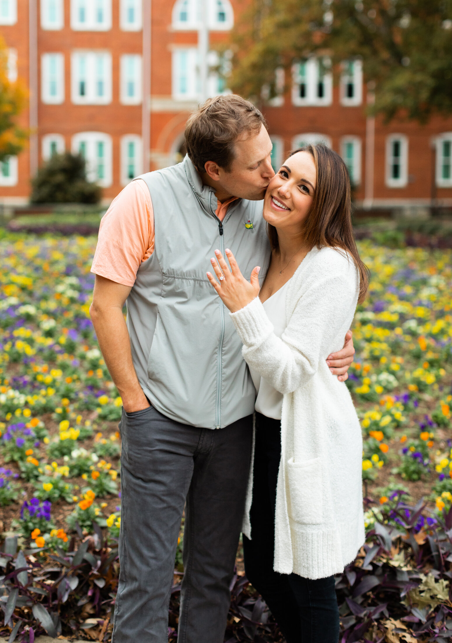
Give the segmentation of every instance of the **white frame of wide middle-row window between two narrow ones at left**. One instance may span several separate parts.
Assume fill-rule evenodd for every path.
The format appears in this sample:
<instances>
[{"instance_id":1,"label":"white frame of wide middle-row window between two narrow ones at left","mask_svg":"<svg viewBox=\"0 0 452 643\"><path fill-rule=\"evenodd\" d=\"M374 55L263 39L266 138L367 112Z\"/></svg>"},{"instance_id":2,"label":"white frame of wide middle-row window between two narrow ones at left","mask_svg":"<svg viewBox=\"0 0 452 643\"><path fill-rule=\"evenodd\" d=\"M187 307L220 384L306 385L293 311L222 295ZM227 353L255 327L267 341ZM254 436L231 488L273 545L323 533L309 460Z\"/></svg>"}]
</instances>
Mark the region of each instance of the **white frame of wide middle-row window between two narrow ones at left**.
<instances>
[{"instance_id":1,"label":"white frame of wide middle-row window between two narrow ones at left","mask_svg":"<svg viewBox=\"0 0 452 643\"><path fill-rule=\"evenodd\" d=\"M81 57L85 57L85 95L80 95ZM103 57L103 78L98 76ZM103 96L98 95L98 82L103 82ZM73 51L71 56L71 100L74 105L109 105L112 102L112 57L109 51Z\"/></svg>"}]
</instances>

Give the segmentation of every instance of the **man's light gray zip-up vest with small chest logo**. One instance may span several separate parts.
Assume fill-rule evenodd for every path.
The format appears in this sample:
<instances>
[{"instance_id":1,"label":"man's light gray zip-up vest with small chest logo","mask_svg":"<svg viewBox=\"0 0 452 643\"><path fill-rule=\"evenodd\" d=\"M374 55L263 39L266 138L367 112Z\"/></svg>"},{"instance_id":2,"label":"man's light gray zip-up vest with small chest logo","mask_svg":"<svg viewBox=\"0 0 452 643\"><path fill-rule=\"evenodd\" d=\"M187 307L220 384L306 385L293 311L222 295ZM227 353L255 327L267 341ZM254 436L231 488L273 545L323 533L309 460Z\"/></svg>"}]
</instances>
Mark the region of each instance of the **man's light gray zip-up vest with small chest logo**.
<instances>
[{"instance_id":1,"label":"man's light gray zip-up vest with small chest logo","mask_svg":"<svg viewBox=\"0 0 452 643\"><path fill-rule=\"evenodd\" d=\"M167 417L223 428L254 411L256 390L229 312L209 283L214 250L230 248L249 279L270 245L262 201L239 199L223 222L214 189L202 185L188 156L139 177L152 199L155 249L127 298L132 358L144 394Z\"/></svg>"}]
</instances>

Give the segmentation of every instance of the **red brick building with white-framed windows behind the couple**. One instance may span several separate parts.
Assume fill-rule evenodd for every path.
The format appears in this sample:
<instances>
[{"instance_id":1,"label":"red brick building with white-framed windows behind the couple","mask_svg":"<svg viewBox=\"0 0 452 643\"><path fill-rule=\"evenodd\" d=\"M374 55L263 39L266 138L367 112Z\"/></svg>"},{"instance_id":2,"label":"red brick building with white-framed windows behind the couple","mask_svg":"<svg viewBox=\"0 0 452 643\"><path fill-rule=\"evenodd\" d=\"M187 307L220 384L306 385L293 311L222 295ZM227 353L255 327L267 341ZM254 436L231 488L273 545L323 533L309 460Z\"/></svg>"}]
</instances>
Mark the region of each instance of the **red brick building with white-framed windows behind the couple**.
<instances>
[{"instance_id":1,"label":"red brick building with white-framed windows behind the couple","mask_svg":"<svg viewBox=\"0 0 452 643\"><path fill-rule=\"evenodd\" d=\"M225 91L213 70L229 65L236 0L0 0L10 75L30 88L21 117L30 147L0 165L0 203L26 203L30 176L55 151L87 158L110 201L130 178L171 165L183 152L187 114ZM209 52L209 53L207 53ZM207 55L206 55L207 53ZM328 59L294 64L290 86L266 105L274 165L302 141L342 154L367 208L452 206L452 119L418 123L366 118L372 97L359 61L333 86Z\"/></svg>"}]
</instances>

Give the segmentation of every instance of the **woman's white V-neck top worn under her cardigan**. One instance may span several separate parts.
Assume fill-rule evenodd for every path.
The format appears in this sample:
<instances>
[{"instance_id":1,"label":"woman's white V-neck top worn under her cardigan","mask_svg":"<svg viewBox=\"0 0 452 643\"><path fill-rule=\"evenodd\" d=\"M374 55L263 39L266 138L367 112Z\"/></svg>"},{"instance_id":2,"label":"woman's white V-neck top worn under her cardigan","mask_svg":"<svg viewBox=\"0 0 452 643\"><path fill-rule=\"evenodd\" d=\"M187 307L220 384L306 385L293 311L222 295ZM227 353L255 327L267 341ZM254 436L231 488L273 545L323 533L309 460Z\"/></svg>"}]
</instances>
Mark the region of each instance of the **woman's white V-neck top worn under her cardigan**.
<instances>
[{"instance_id":1,"label":"woman's white V-neck top worn under her cardigan","mask_svg":"<svg viewBox=\"0 0 452 643\"><path fill-rule=\"evenodd\" d=\"M268 320L273 324L273 332L277 337L281 337L287 327L286 292L289 282L290 279L263 303ZM282 393L277 391L267 379L261 377L255 368L250 367L250 374L254 386L256 386L257 397L254 404L256 411L266 417L281 420Z\"/></svg>"}]
</instances>

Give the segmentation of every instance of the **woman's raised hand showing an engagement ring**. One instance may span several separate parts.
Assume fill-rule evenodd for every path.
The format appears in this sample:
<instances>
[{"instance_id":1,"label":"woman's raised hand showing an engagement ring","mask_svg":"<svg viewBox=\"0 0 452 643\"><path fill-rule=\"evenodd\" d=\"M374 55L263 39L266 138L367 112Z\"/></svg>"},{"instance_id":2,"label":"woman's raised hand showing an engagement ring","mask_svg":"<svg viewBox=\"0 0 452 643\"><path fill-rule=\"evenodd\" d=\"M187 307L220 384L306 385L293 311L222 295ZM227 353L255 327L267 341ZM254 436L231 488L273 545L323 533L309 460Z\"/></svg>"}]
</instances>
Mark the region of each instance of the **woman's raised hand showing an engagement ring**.
<instances>
[{"instance_id":1,"label":"woman's raised hand showing an engagement ring","mask_svg":"<svg viewBox=\"0 0 452 643\"><path fill-rule=\"evenodd\" d=\"M257 275L261 268L256 266L251 273L250 281L247 282L241 274L232 252L226 249L225 253L229 260L230 269L220 250L215 250L216 259L212 257L211 264L219 282L212 273L207 273L207 277L230 312L237 312L256 299L259 294L260 286Z\"/></svg>"}]
</instances>

